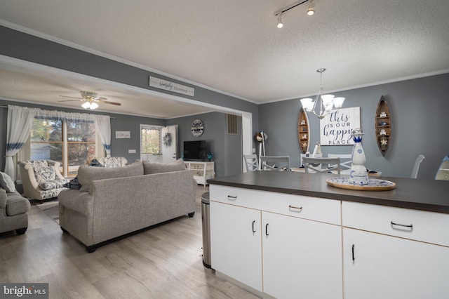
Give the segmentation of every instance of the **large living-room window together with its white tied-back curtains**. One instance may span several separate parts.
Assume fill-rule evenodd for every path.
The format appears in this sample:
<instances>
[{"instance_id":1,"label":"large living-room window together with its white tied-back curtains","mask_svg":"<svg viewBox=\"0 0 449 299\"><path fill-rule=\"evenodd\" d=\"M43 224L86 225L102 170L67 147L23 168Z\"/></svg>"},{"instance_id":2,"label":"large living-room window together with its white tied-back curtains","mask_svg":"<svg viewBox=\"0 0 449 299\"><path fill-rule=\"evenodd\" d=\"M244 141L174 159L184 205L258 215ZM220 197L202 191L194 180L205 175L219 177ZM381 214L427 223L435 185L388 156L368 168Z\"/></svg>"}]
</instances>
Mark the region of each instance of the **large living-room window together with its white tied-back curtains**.
<instances>
[{"instance_id":1,"label":"large living-room window together with its white tied-back curtains","mask_svg":"<svg viewBox=\"0 0 449 299\"><path fill-rule=\"evenodd\" d=\"M15 162L52 159L62 175L74 176L81 164L111 155L110 117L8 105L5 173L19 178Z\"/></svg>"}]
</instances>

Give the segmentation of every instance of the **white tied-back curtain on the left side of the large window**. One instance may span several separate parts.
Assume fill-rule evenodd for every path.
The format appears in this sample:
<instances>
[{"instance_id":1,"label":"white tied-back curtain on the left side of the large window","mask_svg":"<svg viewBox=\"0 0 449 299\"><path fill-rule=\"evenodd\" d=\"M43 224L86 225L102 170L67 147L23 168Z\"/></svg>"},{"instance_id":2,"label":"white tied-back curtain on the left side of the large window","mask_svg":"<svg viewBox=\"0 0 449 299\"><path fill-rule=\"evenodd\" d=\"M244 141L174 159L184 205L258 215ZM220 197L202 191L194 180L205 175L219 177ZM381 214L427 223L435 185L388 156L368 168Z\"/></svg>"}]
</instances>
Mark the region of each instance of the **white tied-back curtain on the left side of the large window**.
<instances>
[{"instance_id":1,"label":"white tied-back curtain on the left side of the large window","mask_svg":"<svg viewBox=\"0 0 449 299\"><path fill-rule=\"evenodd\" d=\"M39 109L8 105L6 128L5 173L15 178L13 156L22 148L31 131L33 119Z\"/></svg>"}]
</instances>

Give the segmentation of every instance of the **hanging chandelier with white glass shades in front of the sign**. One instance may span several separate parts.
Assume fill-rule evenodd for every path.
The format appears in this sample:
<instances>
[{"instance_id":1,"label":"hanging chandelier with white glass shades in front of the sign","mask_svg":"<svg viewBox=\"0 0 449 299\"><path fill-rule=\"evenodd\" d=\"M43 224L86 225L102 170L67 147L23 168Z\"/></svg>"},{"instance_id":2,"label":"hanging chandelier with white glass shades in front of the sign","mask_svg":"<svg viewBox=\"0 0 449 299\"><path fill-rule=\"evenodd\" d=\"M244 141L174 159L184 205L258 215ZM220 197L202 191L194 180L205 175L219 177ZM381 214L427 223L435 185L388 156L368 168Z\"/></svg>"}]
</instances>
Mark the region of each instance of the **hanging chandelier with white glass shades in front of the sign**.
<instances>
[{"instance_id":1,"label":"hanging chandelier with white glass shades in front of the sign","mask_svg":"<svg viewBox=\"0 0 449 299\"><path fill-rule=\"evenodd\" d=\"M344 98L335 98L335 95L326 95L323 93L323 72L326 69L316 69L320 73L320 90L316 95L315 100L311 98L302 98L301 105L306 112L311 112L319 119L323 119L332 109L339 109L342 107ZM316 103L319 103L319 112L315 111Z\"/></svg>"}]
</instances>

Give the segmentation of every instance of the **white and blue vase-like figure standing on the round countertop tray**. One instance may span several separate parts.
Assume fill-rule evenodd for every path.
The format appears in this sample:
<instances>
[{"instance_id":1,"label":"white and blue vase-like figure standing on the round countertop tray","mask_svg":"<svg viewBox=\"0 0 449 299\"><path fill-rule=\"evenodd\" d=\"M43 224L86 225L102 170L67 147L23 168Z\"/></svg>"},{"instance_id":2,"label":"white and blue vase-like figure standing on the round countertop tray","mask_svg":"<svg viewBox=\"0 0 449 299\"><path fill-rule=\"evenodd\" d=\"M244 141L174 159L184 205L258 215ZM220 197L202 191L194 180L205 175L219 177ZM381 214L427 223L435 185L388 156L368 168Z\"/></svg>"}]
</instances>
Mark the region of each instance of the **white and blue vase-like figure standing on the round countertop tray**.
<instances>
[{"instance_id":1,"label":"white and blue vase-like figure standing on the round countertop tray","mask_svg":"<svg viewBox=\"0 0 449 299\"><path fill-rule=\"evenodd\" d=\"M368 185L368 171L365 168L365 151L362 147L363 131L360 128L352 130L352 140L354 147L352 148L352 166L349 174L349 182L355 185Z\"/></svg>"}]
</instances>

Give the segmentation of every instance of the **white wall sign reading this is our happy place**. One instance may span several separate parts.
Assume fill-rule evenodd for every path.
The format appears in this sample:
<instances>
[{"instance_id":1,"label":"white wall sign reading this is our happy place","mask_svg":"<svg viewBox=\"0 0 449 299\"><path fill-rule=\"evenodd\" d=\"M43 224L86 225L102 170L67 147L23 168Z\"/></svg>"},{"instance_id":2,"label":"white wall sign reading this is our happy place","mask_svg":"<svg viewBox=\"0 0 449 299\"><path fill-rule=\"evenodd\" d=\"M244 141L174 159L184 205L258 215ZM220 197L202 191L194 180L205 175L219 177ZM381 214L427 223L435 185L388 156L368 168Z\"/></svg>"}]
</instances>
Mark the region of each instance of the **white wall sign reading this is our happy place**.
<instances>
[{"instance_id":1,"label":"white wall sign reading this is our happy place","mask_svg":"<svg viewBox=\"0 0 449 299\"><path fill-rule=\"evenodd\" d=\"M320 120L320 144L354 145L354 128L360 128L360 107L332 110Z\"/></svg>"}]
</instances>

